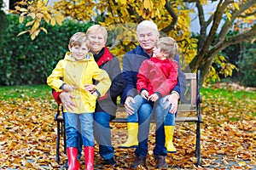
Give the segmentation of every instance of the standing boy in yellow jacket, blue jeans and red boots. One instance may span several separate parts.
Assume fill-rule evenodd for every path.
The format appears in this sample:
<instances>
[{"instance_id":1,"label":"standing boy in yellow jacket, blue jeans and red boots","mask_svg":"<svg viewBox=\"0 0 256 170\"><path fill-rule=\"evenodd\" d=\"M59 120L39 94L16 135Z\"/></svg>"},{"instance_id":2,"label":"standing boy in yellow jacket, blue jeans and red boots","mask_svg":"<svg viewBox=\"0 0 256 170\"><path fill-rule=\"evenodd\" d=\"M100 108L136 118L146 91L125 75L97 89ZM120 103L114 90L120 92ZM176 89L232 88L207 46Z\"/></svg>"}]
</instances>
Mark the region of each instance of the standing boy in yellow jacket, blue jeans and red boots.
<instances>
[{"instance_id":1,"label":"standing boy in yellow jacket, blue jeans and red boots","mask_svg":"<svg viewBox=\"0 0 256 170\"><path fill-rule=\"evenodd\" d=\"M108 73L98 67L93 55L88 53L90 42L84 32L77 32L70 38L64 59L55 66L47 78L49 87L57 92L62 90L73 94L76 107L72 112L64 110L67 133L68 169L79 169L78 136L82 134L84 144L85 169L93 169L94 136L93 112L96 99L103 96L111 86ZM96 81L96 89L86 90L86 85ZM63 104L65 105L65 104Z\"/></svg>"}]
</instances>

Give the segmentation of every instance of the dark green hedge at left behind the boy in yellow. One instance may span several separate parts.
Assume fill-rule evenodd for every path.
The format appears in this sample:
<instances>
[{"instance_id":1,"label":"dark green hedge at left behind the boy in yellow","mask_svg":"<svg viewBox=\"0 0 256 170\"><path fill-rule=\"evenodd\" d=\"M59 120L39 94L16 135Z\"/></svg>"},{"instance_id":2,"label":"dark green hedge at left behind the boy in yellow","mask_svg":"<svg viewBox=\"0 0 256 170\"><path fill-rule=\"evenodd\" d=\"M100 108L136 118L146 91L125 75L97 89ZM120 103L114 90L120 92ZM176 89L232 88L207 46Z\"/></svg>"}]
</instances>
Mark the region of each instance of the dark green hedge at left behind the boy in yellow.
<instances>
[{"instance_id":1,"label":"dark green hedge at left behind the boy in yellow","mask_svg":"<svg viewBox=\"0 0 256 170\"><path fill-rule=\"evenodd\" d=\"M62 26L45 26L48 33L40 32L35 40L25 31L19 16L7 14L9 25L3 32L0 56L0 85L44 84L58 60L67 52L69 38L77 31L86 31L90 23L65 20Z\"/></svg>"}]
</instances>

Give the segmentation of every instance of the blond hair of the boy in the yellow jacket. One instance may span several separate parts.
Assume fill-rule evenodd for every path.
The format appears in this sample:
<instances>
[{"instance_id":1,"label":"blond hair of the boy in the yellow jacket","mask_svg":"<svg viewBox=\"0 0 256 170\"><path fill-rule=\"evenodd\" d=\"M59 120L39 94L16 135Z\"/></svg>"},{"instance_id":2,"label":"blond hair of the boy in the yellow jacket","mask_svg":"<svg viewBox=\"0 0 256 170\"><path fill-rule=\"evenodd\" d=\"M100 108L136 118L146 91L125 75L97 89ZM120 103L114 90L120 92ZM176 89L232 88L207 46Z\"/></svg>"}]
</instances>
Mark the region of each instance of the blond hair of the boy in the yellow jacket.
<instances>
[{"instance_id":1,"label":"blond hair of the boy in the yellow jacket","mask_svg":"<svg viewBox=\"0 0 256 170\"><path fill-rule=\"evenodd\" d=\"M84 32L77 32L73 34L73 36L69 40L69 46L72 48L73 46L79 45L81 46L82 43L85 42L86 47L89 49L90 48L90 41L86 37L86 34Z\"/></svg>"}]
</instances>

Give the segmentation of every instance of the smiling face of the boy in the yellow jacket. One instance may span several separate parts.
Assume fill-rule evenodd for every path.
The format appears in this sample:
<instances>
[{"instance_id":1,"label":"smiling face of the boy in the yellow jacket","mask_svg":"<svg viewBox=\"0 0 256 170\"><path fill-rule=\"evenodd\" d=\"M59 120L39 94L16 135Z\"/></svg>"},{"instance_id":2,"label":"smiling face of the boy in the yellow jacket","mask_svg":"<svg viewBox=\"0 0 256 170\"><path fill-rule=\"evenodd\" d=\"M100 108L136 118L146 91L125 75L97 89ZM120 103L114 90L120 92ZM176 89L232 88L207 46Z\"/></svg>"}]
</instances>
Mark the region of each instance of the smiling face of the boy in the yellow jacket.
<instances>
[{"instance_id":1,"label":"smiling face of the boy in the yellow jacket","mask_svg":"<svg viewBox=\"0 0 256 170\"><path fill-rule=\"evenodd\" d=\"M73 58L76 60L84 59L85 55L88 54L89 49L86 46L86 43L82 43L81 46L74 45L73 47L69 47L70 52L73 55Z\"/></svg>"}]
</instances>

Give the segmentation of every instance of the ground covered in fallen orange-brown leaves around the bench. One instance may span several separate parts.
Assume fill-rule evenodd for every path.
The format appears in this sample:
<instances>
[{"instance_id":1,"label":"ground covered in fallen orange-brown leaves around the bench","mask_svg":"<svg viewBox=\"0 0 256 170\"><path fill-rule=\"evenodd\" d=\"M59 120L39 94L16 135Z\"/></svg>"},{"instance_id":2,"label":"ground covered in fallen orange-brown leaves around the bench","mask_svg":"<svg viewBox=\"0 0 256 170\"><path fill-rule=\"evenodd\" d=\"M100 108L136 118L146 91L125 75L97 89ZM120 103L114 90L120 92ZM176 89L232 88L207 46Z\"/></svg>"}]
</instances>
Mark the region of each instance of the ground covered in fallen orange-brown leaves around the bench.
<instances>
[{"instance_id":1,"label":"ground covered in fallen orange-brown leaves around the bench","mask_svg":"<svg viewBox=\"0 0 256 170\"><path fill-rule=\"evenodd\" d=\"M255 89L227 84L208 87L202 100L201 166L195 167L195 124L178 123L174 144L176 154L166 161L172 169L255 169L256 168L256 99ZM224 89L228 94L212 91ZM249 91L249 92L247 92ZM241 98L230 95L239 92ZM253 94L249 96L248 94ZM232 98L232 99L229 99ZM0 169L60 169L55 162L55 101L32 98L26 94L0 101ZM119 149L125 142L126 125L111 124L116 167L102 165L96 144L96 169L127 169L134 149ZM148 140L148 169L154 169L154 124ZM67 156L61 143L61 164ZM84 158L81 160L84 167Z\"/></svg>"}]
</instances>

